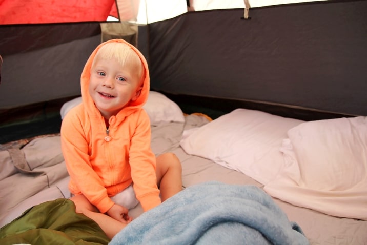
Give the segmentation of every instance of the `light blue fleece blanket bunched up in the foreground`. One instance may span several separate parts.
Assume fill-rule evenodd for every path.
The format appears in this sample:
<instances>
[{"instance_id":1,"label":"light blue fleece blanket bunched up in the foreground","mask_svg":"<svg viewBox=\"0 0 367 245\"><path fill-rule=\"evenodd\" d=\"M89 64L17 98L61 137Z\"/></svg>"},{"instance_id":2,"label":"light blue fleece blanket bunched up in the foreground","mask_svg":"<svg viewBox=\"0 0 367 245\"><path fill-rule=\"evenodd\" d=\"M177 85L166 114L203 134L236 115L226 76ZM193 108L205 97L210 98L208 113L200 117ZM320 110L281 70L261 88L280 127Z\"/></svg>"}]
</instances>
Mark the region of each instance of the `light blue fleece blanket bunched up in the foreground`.
<instances>
[{"instance_id":1,"label":"light blue fleece blanket bunched up in the foreground","mask_svg":"<svg viewBox=\"0 0 367 245\"><path fill-rule=\"evenodd\" d=\"M109 244L296 245L309 241L261 189L206 182L143 213Z\"/></svg>"}]
</instances>

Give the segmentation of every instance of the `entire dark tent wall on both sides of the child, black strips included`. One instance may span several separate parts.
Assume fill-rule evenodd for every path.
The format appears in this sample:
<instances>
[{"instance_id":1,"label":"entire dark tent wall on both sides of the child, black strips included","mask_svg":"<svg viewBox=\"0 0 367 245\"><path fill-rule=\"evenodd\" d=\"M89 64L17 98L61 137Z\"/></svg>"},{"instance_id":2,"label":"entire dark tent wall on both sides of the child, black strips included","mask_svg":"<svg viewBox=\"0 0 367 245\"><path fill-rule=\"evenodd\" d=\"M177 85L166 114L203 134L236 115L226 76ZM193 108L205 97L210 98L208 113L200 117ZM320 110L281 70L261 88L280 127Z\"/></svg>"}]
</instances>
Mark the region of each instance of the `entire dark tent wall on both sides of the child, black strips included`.
<instances>
[{"instance_id":1,"label":"entire dark tent wall on both sides of the child, black strips included","mask_svg":"<svg viewBox=\"0 0 367 245\"><path fill-rule=\"evenodd\" d=\"M243 9L193 11L139 26L137 47L151 89L186 113L367 115L365 10L367 1L330 0L251 8L249 20ZM0 26L0 36L0 142L58 132L99 23Z\"/></svg>"}]
</instances>

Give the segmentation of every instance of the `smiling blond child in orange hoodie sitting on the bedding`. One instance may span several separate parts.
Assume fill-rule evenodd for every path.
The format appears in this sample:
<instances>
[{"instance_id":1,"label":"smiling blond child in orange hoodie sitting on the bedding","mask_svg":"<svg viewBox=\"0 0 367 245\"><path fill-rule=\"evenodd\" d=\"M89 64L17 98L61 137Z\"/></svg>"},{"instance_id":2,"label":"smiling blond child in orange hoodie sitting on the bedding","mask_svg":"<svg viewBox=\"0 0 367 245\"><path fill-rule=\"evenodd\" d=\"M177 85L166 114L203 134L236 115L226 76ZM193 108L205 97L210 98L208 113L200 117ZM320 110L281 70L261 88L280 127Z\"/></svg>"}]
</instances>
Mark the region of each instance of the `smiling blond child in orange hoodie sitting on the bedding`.
<instances>
[{"instance_id":1,"label":"smiling blond child in orange hoodie sitting on the bedding","mask_svg":"<svg viewBox=\"0 0 367 245\"><path fill-rule=\"evenodd\" d=\"M172 153L156 158L151 151L142 109L149 71L134 46L123 39L100 44L81 74L81 95L61 127L71 200L112 238L132 220L128 208L136 203L124 195L133 189L144 211L156 207L181 190L181 165Z\"/></svg>"}]
</instances>

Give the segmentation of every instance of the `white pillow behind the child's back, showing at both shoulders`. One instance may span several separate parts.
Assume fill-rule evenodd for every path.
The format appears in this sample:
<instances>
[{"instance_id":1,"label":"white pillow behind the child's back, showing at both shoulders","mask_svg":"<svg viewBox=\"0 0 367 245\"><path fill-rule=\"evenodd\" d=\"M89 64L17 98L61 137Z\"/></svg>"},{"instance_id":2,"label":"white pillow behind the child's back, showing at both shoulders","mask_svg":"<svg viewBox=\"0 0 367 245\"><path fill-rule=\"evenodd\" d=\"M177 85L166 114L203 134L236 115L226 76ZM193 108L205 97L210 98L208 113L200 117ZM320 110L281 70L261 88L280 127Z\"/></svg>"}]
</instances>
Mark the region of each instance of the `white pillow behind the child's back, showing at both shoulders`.
<instances>
[{"instance_id":1,"label":"white pillow behind the child's back, showing at both shoulders","mask_svg":"<svg viewBox=\"0 0 367 245\"><path fill-rule=\"evenodd\" d=\"M60 110L61 118L64 119L66 113L80 103L81 97L77 97L66 102ZM147 103L142 108L144 108L148 113L150 124L152 126L159 125L162 122L185 122L184 113L178 105L164 94L155 91L149 91Z\"/></svg>"}]
</instances>

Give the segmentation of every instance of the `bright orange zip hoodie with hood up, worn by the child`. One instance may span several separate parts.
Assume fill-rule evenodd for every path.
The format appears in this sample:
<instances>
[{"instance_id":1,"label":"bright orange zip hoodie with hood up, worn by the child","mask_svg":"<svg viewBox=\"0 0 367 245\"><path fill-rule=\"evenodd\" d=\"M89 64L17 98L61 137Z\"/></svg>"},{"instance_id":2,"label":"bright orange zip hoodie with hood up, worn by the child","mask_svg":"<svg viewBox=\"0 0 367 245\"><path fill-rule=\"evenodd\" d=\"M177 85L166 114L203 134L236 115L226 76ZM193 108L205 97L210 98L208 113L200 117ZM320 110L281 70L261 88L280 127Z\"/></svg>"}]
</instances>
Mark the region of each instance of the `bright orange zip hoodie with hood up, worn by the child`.
<instances>
[{"instance_id":1,"label":"bright orange zip hoodie with hood up, worn by the child","mask_svg":"<svg viewBox=\"0 0 367 245\"><path fill-rule=\"evenodd\" d=\"M145 79L139 97L109 119L112 140L106 141L105 120L94 105L88 86L94 56L101 46L110 42L125 43L139 55L145 66ZM146 59L124 40L109 40L100 44L89 57L80 84L83 103L68 112L61 127L71 193L83 193L101 213L105 213L114 205L110 197L133 182L136 198L144 211L159 205L155 155L150 147L150 121L142 109L149 95Z\"/></svg>"}]
</instances>

